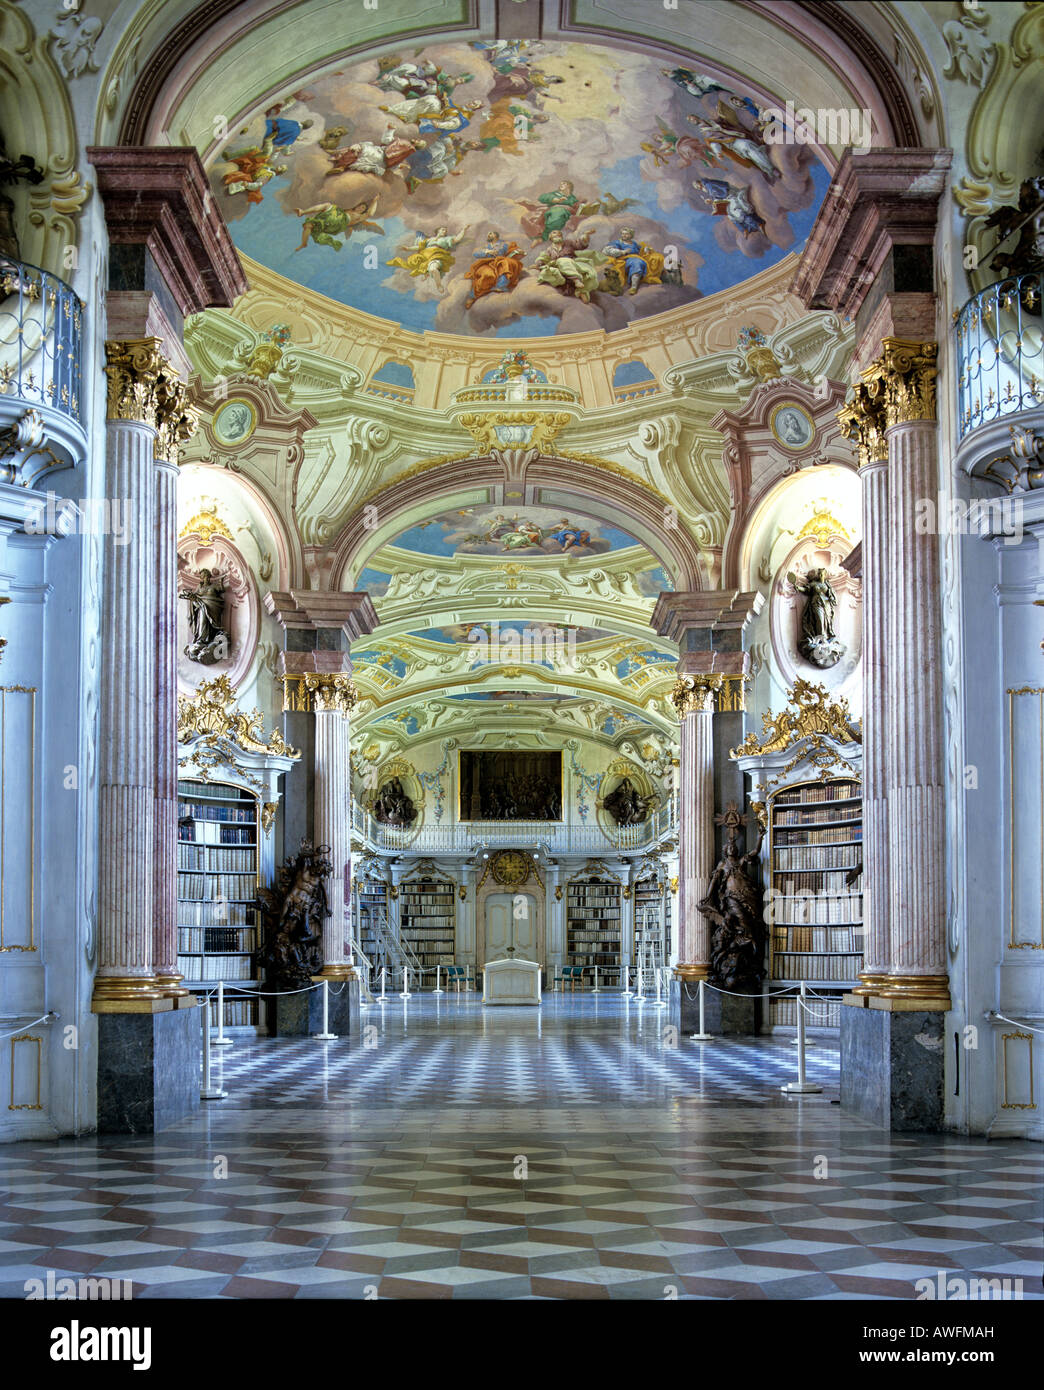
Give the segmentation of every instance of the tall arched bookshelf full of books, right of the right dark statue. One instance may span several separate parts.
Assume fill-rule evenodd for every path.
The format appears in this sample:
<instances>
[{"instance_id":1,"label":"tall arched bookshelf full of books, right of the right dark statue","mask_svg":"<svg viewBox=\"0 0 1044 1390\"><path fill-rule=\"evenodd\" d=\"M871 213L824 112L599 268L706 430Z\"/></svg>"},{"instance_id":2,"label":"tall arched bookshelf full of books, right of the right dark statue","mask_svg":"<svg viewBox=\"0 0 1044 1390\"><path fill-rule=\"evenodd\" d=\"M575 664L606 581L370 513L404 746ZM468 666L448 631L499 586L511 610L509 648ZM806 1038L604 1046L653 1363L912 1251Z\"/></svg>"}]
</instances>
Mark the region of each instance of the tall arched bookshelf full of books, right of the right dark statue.
<instances>
[{"instance_id":1,"label":"tall arched bookshelf full of books, right of the right dark statue","mask_svg":"<svg viewBox=\"0 0 1044 1390\"><path fill-rule=\"evenodd\" d=\"M855 778L797 783L769 796L770 969L773 986L805 980L820 1027L840 1026L841 994L862 969L862 791ZM792 999L773 999L773 1024L797 1023Z\"/></svg>"}]
</instances>

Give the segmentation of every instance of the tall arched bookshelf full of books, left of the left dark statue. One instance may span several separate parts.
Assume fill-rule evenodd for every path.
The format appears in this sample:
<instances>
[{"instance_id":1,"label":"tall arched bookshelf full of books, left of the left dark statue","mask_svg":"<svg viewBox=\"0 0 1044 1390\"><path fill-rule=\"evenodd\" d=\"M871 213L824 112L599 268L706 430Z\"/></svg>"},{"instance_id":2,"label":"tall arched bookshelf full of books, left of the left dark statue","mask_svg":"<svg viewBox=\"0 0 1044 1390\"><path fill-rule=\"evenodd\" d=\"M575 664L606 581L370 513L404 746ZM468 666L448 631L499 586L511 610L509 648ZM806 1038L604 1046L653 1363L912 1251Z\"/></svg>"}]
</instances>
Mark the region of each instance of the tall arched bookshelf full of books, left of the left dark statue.
<instances>
[{"instance_id":1,"label":"tall arched bookshelf full of books, left of the left dark statue","mask_svg":"<svg viewBox=\"0 0 1044 1390\"><path fill-rule=\"evenodd\" d=\"M178 781L178 970L190 988L259 983L259 810L242 787ZM259 999L225 998L225 1027L259 1022Z\"/></svg>"}]
</instances>

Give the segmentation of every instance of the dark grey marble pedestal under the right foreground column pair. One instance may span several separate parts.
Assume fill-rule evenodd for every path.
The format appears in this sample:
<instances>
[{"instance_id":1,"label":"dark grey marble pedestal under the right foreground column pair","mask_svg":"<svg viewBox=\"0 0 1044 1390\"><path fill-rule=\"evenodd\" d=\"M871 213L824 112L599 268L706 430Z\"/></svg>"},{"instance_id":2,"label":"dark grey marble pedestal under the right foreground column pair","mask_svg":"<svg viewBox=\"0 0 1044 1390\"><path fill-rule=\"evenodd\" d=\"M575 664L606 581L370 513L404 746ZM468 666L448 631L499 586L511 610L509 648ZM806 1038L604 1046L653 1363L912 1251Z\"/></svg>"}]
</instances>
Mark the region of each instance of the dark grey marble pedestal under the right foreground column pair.
<instances>
[{"instance_id":1,"label":"dark grey marble pedestal under the right foreground column pair","mask_svg":"<svg viewBox=\"0 0 1044 1390\"><path fill-rule=\"evenodd\" d=\"M943 1129L945 1013L841 1008L841 1108L891 1130Z\"/></svg>"}]
</instances>

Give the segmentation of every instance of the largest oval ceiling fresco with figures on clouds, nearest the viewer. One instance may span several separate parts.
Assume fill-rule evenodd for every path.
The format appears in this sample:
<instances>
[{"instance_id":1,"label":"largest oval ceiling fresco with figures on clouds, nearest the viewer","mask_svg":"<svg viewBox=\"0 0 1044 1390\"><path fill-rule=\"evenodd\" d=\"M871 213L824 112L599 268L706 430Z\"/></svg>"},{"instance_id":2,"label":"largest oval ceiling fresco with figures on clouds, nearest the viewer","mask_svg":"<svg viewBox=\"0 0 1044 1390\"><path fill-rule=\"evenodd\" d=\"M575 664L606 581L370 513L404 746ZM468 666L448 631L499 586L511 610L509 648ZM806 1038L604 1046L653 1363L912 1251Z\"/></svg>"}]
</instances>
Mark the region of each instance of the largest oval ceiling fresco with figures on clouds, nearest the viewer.
<instances>
[{"instance_id":1,"label":"largest oval ceiling fresco with figures on clouds, nearest the viewer","mask_svg":"<svg viewBox=\"0 0 1044 1390\"><path fill-rule=\"evenodd\" d=\"M696 67L498 39L317 76L211 167L236 246L417 331L620 328L804 242L829 185L805 145Z\"/></svg>"}]
</instances>

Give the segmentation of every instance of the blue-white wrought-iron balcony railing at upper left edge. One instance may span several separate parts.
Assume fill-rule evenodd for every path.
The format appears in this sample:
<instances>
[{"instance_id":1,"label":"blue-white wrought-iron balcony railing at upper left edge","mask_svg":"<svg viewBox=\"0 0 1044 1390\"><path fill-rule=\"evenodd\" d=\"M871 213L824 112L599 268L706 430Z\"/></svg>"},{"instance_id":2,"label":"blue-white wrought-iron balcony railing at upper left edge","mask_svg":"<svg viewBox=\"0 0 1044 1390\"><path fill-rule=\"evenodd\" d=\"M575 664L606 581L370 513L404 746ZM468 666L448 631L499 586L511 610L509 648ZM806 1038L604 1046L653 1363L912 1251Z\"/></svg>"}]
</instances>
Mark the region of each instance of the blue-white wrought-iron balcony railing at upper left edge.
<instances>
[{"instance_id":1,"label":"blue-white wrought-iron balcony railing at upper left edge","mask_svg":"<svg viewBox=\"0 0 1044 1390\"><path fill-rule=\"evenodd\" d=\"M83 304L39 265L0 257L0 396L82 423Z\"/></svg>"}]
</instances>

